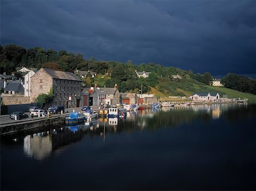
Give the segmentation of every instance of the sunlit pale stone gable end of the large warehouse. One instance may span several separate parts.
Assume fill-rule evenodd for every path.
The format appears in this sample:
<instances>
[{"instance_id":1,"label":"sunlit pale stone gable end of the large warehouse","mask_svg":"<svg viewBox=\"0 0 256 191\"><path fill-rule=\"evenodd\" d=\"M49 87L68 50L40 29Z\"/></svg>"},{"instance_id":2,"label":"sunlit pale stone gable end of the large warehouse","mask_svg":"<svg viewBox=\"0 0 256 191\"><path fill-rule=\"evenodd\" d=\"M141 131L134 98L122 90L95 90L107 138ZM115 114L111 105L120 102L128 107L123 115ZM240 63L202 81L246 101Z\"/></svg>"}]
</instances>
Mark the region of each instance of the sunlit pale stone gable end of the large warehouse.
<instances>
[{"instance_id":1,"label":"sunlit pale stone gable end of the large warehouse","mask_svg":"<svg viewBox=\"0 0 256 191\"><path fill-rule=\"evenodd\" d=\"M36 97L40 94L49 94L52 87L52 77L46 73L43 69L38 70L31 77L31 96L30 101L35 102Z\"/></svg>"}]
</instances>

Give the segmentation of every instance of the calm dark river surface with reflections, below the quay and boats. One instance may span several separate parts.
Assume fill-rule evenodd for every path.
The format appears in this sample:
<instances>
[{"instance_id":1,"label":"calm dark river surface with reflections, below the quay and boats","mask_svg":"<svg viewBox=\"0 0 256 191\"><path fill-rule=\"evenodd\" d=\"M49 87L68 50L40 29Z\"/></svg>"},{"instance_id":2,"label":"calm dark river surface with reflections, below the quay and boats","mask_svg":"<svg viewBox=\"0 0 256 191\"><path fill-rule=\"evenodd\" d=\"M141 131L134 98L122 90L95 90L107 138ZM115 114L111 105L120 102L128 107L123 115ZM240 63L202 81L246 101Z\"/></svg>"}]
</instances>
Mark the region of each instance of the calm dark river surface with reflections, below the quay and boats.
<instances>
[{"instance_id":1,"label":"calm dark river surface with reflections, below the quay and boats","mask_svg":"<svg viewBox=\"0 0 256 191\"><path fill-rule=\"evenodd\" d=\"M1 190L255 190L255 119L193 105L1 137Z\"/></svg>"}]
</instances>

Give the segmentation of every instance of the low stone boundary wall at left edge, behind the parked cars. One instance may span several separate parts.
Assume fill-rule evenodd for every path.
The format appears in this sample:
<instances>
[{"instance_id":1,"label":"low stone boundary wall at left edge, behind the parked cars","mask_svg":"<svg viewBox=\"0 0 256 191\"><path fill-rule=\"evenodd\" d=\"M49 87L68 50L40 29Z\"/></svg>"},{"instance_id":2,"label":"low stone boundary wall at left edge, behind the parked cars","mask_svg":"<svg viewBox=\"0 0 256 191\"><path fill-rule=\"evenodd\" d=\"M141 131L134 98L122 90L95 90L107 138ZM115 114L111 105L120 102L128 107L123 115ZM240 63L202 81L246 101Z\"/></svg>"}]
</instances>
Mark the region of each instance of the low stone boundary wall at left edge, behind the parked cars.
<instances>
[{"instance_id":1,"label":"low stone boundary wall at left edge, behind the parked cars","mask_svg":"<svg viewBox=\"0 0 256 191\"><path fill-rule=\"evenodd\" d=\"M2 94L3 105L30 104L30 97L18 94Z\"/></svg>"}]
</instances>

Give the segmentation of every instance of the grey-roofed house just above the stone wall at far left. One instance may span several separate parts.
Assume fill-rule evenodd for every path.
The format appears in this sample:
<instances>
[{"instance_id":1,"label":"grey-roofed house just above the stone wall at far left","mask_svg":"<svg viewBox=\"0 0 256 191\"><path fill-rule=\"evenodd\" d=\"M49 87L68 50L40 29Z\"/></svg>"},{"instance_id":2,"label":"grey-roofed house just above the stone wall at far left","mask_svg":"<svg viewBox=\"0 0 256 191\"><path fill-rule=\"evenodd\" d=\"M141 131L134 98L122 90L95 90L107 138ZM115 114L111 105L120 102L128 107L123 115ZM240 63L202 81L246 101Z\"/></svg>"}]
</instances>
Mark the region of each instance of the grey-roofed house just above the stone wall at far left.
<instances>
[{"instance_id":1,"label":"grey-roofed house just above the stone wall at far left","mask_svg":"<svg viewBox=\"0 0 256 191\"><path fill-rule=\"evenodd\" d=\"M24 87L19 80L3 82L3 91L8 94L24 94Z\"/></svg>"}]
</instances>

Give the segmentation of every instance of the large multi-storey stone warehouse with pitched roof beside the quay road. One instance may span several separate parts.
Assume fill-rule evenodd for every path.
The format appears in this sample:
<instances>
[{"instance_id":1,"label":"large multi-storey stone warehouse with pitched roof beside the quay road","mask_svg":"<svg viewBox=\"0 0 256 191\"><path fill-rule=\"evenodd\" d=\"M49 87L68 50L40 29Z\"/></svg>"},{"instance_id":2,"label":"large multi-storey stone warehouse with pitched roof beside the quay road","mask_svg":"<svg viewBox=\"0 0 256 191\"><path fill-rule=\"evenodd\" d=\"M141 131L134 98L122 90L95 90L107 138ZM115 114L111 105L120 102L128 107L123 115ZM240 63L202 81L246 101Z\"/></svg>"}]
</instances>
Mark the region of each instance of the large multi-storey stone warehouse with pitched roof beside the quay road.
<instances>
[{"instance_id":1,"label":"large multi-storey stone warehouse with pitched roof beside the quay road","mask_svg":"<svg viewBox=\"0 0 256 191\"><path fill-rule=\"evenodd\" d=\"M80 107L81 80L73 73L41 68L31 77L31 102L40 94L53 90L50 105L64 105L66 108Z\"/></svg>"}]
</instances>

